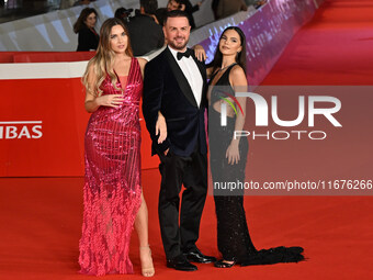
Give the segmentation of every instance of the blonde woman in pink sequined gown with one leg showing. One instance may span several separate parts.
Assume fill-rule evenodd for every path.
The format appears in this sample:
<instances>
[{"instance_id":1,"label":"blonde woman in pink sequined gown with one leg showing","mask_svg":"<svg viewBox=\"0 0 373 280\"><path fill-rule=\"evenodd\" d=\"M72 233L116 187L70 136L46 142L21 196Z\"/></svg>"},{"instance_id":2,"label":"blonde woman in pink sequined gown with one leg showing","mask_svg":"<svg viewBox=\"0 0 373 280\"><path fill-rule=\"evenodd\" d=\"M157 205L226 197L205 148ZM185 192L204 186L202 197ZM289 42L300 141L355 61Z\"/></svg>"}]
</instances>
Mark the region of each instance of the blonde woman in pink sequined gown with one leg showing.
<instances>
[{"instance_id":1,"label":"blonde woman in pink sequined gown with one leg showing","mask_svg":"<svg viewBox=\"0 0 373 280\"><path fill-rule=\"evenodd\" d=\"M155 269L148 245L139 154L139 101L146 60L133 57L126 27L120 20L106 20L100 38L98 53L83 76L86 110L92 115L84 141L80 272L133 273L128 250L135 224L142 272L151 277Z\"/></svg>"}]
</instances>

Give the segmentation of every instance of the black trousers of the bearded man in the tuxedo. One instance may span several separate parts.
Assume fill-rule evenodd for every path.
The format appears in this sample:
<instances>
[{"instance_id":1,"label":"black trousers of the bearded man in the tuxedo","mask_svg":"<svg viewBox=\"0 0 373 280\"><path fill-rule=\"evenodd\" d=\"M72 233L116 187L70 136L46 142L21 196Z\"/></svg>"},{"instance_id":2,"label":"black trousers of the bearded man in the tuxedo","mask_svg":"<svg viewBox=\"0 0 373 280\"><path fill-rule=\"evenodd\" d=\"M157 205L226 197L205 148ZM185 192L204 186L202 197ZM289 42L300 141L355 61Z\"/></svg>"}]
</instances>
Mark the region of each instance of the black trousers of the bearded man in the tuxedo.
<instances>
[{"instance_id":1,"label":"black trousers of the bearded man in the tuxedo","mask_svg":"<svg viewBox=\"0 0 373 280\"><path fill-rule=\"evenodd\" d=\"M195 248L202 210L207 194L207 157L194 152L189 157L158 154L161 184L159 192L159 224L168 260ZM180 191L182 193L180 206ZM179 224L180 206L180 224Z\"/></svg>"}]
</instances>

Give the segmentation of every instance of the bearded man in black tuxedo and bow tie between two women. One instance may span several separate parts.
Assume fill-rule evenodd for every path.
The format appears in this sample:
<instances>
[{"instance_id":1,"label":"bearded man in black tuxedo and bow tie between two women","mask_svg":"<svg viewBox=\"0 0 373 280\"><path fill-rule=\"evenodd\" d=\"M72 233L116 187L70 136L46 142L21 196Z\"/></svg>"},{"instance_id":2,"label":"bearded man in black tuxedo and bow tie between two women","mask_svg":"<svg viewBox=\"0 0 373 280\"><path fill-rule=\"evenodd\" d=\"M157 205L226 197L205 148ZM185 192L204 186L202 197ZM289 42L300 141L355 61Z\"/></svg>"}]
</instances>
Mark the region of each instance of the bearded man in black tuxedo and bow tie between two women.
<instances>
[{"instance_id":1,"label":"bearded man in black tuxedo and bow tie between two women","mask_svg":"<svg viewBox=\"0 0 373 280\"><path fill-rule=\"evenodd\" d=\"M171 11L165 19L168 47L145 68L143 112L152 139L152 154L161 164L159 223L167 266L193 271L194 262L212 262L195 243L207 193L207 159L204 112L206 70L191 49L188 14ZM167 138L158 144L158 113L167 121ZM179 193L182 193L179 225Z\"/></svg>"}]
</instances>

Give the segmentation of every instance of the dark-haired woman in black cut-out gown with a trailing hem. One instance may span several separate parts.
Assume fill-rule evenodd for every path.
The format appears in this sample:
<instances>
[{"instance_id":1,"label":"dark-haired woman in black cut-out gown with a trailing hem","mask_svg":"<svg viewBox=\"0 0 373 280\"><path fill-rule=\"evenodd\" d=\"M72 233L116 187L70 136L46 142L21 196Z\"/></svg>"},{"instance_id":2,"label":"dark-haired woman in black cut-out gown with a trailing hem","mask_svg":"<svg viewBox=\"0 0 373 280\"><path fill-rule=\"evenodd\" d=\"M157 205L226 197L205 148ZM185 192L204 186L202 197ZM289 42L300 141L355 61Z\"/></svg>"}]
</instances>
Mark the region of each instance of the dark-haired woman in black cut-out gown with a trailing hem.
<instances>
[{"instance_id":1,"label":"dark-haired woman in black cut-out gown with a trailing hem","mask_svg":"<svg viewBox=\"0 0 373 280\"><path fill-rule=\"evenodd\" d=\"M235 92L248 91L246 38L239 27L230 26L223 32L210 66L208 138L213 182L245 182L249 145L247 137L234 138L234 131L242 131L246 115L246 98L235 98ZM222 103L227 112L226 126L221 125ZM241 266L297 262L304 259L302 247L256 249L246 222L244 190L214 189L214 200L217 245L223 256L215 267L228 268L236 262Z\"/></svg>"}]
</instances>

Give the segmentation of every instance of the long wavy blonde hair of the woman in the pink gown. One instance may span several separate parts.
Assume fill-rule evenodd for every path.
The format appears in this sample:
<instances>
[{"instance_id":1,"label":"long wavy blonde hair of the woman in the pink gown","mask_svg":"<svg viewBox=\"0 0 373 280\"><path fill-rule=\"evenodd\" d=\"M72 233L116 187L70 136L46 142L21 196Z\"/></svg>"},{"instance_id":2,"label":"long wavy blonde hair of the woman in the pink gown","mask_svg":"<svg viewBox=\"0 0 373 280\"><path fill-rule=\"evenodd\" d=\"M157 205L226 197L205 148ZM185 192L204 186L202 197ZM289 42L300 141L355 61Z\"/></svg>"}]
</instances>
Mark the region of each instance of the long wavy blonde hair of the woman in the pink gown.
<instances>
[{"instance_id":1,"label":"long wavy blonde hair of the woman in the pink gown","mask_svg":"<svg viewBox=\"0 0 373 280\"><path fill-rule=\"evenodd\" d=\"M117 77L114 72L114 57L115 53L110 46L110 34L111 30L115 25L121 25L124 29L124 32L126 33L128 40L127 40L127 48L125 51L126 55L129 57L133 57L133 52L131 47L131 41L128 35L128 30L124 25L122 20L112 18L104 21L100 29L100 42L99 47L95 53L95 55L89 60L87 65L86 72L82 77L82 83L86 87L87 92L90 92L91 94L95 97L100 97L102 94L101 85L105 80L106 75L109 75L112 85L116 90L121 90L116 87ZM93 74L95 75L95 82L93 88L90 88L89 86L89 69L93 67Z\"/></svg>"}]
</instances>

